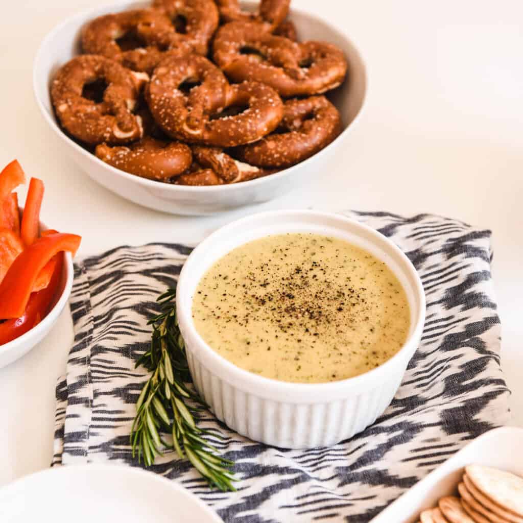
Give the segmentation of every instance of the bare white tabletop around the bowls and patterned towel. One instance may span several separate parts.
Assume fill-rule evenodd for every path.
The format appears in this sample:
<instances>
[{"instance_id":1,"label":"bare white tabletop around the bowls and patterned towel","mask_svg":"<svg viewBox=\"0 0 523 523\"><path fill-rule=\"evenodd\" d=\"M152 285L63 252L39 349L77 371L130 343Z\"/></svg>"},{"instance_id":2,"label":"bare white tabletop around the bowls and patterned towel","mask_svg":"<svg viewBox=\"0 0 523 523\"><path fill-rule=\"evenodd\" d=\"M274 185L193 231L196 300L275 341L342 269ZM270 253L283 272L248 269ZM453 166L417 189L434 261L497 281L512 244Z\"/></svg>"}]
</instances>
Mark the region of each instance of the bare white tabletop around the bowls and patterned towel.
<instances>
[{"instance_id":1,"label":"bare white tabletop around the bowls and patterned towel","mask_svg":"<svg viewBox=\"0 0 523 523\"><path fill-rule=\"evenodd\" d=\"M79 255L152 241L195 243L247 213L306 208L433 212L494 232L502 364L523 425L523 3L519 0L293 0L347 31L367 61L365 115L309 185L257 208L180 218L99 187L61 154L33 101L40 40L106 0L16 0L0 17L0 164L43 178L42 218L83 236ZM69 312L0 369L0 485L49 466L54 385L72 341Z\"/></svg>"}]
</instances>

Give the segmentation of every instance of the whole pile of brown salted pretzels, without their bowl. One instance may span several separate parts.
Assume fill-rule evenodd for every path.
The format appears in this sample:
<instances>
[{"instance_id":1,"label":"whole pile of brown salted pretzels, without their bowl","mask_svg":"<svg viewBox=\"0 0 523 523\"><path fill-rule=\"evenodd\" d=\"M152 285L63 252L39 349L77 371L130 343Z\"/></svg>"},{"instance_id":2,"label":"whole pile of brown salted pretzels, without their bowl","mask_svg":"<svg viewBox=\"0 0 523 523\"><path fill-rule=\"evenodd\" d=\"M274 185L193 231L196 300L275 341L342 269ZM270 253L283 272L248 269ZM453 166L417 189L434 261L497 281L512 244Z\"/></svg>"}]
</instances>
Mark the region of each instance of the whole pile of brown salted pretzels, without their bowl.
<instances>
[{"instance_id":1,"label":"whole pile of brown salted pretzels, without their bowl","mask_svg":"<svg viewBox=\"0 0 523 523\"><path fill-rule=\"evenodd\" d=\"M63 129L104 162L180 185L237 183L297 164L340 132L323 93L343 52L298 42L290 0L153 0L101 16L51 85Z\"/></svg>"}]
</instances>

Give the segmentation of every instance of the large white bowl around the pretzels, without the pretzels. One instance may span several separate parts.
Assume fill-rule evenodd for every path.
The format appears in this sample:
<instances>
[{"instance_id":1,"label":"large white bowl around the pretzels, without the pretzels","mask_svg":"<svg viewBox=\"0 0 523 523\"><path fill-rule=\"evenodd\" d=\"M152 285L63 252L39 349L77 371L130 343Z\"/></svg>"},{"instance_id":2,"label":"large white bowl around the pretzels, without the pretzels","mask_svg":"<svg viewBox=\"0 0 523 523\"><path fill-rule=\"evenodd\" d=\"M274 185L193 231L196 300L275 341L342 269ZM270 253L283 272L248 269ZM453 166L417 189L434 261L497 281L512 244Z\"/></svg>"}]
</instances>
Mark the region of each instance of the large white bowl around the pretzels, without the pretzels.
<instances>
[{"instance_id":1,"label":"large white bowl around the pretzels, without the pretzels","mask_svg":"<svg viewBox=\"0 0 523 523\"><path fill-rule=\"evenodd\" d=\"M354 129L365 99L367 79L365 65L354 44L335 27L324 20L291 10L302 38L326 40L345 52L349 69L346 82L329 97L339 109L344 131L325 149L294 167L280 173L246 181L240 184L218 187L185 187L163 184L125 173L99 160L67 137L56 122L49 96L49 87L56 71L65 62L77 55L82 27L93 18L107 13L149 5L144 2L121 2L108 7L97 7L63 22L43 40L33 66L33 90L42 115L49 127L60 137L62 150L68 154L91 178L123 198L151 209L174 214L213 214L253 203L261 203L284 194L293 187L302 185L308 176L326 172L325 163L333 153L346 143ZM255 2L245 2L254 7Z\"/></svg>"}]
</instances>

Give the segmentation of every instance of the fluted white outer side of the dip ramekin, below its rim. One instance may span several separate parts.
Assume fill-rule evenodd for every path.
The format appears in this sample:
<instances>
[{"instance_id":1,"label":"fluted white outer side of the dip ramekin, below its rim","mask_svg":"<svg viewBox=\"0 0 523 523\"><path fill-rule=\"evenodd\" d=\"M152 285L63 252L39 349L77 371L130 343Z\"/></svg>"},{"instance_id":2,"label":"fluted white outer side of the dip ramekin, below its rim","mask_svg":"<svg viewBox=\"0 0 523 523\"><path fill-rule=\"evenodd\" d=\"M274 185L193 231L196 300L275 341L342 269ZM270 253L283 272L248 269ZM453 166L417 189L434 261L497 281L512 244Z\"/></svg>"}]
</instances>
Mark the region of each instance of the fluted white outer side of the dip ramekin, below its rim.
<instances>
[{"instance_id":1,"label":"fluted white outer side of the dip ramekin, below its rim","mask_svg":"<svg viewBox=\"0 0 523 523\"><path fill-rule=\"evenodd\" d=\"M385 411L405 371L346 399L288 403L265 399L256 390L240 389L215 376L190 351L187 356L196 389L219 420L254 441L290 449L327 447L360 433Z\"/></svg>"}]
</instances>

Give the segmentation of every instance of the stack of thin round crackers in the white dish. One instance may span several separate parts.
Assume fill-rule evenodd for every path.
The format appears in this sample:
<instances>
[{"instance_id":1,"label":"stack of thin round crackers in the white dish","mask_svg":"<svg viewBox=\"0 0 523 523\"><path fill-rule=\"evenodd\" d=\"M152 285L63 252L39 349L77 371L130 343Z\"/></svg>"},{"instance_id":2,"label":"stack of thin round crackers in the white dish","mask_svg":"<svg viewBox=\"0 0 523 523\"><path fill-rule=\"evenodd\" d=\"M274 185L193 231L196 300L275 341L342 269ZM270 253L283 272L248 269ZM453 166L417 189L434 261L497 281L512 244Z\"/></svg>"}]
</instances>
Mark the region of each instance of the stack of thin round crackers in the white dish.
<instances>
[{"instance_id":1,"label":"stack of thin round crackers in the white dish","mask_svg":"<svg viewBox=\"0 0 523 523\"><path fill-rule=\"evenodd\" d=\"M469 465L458 485L459 497L442 497L424 510L421 523L523 523L523 477Z\"/></svg>"}]
</instances>

